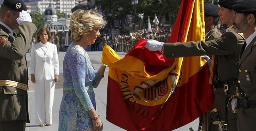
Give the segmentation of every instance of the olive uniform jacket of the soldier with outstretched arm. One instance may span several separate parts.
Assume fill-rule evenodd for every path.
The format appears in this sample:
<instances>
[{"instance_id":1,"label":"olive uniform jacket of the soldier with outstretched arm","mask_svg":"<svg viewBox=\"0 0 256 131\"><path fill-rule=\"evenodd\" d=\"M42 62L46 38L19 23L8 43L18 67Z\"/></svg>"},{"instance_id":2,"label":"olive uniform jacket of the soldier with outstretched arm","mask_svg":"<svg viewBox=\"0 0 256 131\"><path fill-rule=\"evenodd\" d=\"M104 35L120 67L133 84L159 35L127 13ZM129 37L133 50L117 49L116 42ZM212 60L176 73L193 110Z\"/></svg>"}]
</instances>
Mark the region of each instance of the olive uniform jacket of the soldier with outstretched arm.
<instances>
[{"instance_id":1,"label":"olive uniform jacket of the soldier with outstretched arm","mask_svg":"<svg viewBox=\"0 0 256 131\"><path fill-rule=\"evenodd\" d=\"M165 43L164 55L168 58L189 57L199 55L215 55L216 67L214 77L218 76L220 81L227 81L236 76L237 62L239 60L240 48L244 43L244 38L232 31L225 32L220 38L206 42L185 42L185 43ZM214 81L214 80L213 80ZM228 96L235 95L235 86L229 86ZM223 88L215 91L214 107L218 109L220 119L225 120L226 96ZM233 119L233 120L231 120ZM237 114L228 111L229 131L236 131Z\"/></svg>"}]
</instances>

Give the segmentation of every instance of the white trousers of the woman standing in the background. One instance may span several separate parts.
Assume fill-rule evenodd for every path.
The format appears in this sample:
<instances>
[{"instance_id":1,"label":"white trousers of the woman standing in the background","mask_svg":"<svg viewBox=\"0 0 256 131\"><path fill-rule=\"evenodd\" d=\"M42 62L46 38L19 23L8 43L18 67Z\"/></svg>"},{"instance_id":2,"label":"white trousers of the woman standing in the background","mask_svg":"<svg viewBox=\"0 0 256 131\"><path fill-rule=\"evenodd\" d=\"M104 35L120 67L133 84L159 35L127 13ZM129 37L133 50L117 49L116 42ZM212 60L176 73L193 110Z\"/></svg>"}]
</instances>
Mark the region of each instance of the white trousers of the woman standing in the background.
<instances>
[{"instance_id":1,"label":"white trousers of the woman standing in the background","mask_svg":"<svg viewBox=\"0 0 256 131\"><path fill-rule=\"evenodd\" d=\"M36 124L52 124L52 106L54 102L54 80L36 80L35 109Z\"/></svg>"}]
</instances>

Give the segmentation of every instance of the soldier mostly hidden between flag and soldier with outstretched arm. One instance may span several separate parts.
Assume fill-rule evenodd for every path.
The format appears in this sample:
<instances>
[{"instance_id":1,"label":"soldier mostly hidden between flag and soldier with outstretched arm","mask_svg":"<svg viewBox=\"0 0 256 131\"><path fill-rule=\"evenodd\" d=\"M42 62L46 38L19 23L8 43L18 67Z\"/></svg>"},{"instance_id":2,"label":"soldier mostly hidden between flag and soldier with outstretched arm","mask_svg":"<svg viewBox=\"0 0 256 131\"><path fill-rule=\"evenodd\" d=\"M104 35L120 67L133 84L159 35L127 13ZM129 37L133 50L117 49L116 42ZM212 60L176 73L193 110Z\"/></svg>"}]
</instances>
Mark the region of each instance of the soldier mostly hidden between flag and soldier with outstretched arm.
<instances>
[{"instance_id":1,"label":"soldier mostly hidden between flag and soldier with outstretched arm","mask_svg":"<svg viewBox=\"0 0 256 131\"><path fill-rule=\"evenodd\" d=\"M220 7L218 7L218 5L211 3L204 4L205 41L218 39L221 36L221 33L217 29L217 25L220 22L220 16L218 15L219 11ZM204 57L208 56L206 55ZM200 117L199 129L203 128L203 131L218 131L219 126L212 124L209 118L211 111L212 109Z\"/></svg>"}]
</instances>

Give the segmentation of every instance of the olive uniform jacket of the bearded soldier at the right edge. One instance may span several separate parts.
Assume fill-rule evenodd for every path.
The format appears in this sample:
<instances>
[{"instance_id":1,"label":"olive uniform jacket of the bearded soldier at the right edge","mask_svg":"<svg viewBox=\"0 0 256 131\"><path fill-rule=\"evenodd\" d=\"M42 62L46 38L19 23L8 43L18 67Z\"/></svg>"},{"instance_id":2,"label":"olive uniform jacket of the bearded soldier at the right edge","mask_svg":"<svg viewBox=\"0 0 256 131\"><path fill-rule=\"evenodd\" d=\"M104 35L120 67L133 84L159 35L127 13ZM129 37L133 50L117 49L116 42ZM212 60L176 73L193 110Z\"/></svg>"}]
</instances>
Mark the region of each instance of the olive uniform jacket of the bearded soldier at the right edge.
<instances>
[{"instance_id":1,"label":"olive uniform jacket of the bearded soldier at the right edge","mask_svg":"<svg viewBox=\"0 0 256 131\"><path fill-rule=\"evenodd\" d=\"M237 83L249 101L256 101L256 37L240 54ZM239 131L256 131L256 108L239 108L237 116Z\"/></svg>"}]
</instances>

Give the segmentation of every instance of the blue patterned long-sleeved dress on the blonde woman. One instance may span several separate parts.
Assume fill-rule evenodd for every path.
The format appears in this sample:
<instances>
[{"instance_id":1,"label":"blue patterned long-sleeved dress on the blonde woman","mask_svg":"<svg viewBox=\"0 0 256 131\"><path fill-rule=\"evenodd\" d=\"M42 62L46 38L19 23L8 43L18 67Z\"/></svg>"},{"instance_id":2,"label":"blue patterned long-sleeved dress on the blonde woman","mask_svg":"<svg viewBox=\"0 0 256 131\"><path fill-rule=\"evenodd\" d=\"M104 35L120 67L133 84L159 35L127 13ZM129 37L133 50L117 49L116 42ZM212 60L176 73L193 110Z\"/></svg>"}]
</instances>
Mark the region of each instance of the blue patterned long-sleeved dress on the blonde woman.
<instances>
[{"instance_id":1,"label":"blue patterned long-sleeved dress on the blonde woman","mask_svg":"<svg viewBox=\"0 0 256 131\"><path fill-rule=\"evenodd\" d=\"M63 97L59 111L59 131L91 131L92 119L86 111L96 109L93 87L97 74L86 51L70 44L63 61Z\"/></svg>"}]
</instances>

